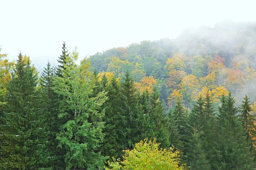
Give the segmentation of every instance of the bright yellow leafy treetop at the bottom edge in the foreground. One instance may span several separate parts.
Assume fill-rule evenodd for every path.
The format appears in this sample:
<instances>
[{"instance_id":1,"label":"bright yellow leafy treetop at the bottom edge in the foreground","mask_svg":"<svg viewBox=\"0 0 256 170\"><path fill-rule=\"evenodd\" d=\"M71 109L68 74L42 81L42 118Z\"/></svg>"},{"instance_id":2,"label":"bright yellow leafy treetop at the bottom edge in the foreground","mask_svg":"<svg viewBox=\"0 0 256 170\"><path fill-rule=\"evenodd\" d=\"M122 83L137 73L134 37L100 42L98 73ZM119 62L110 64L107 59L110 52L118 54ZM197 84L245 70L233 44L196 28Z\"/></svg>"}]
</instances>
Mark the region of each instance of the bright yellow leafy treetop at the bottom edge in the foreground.
<instances>
[{"instance_id":1,"label":"bright yellow leafy treetop at the bottom edge in the foreground","mask_svg":"<svg viewBox=\"0 0 256 170\"><path fill-rule=\"evenodd\" d=\"M183 170L180 166L180 155L172 147L160 149L160 143L153 141L140 141L133 150L124 150L124 160L121 166L118 161L108 162L111 169L106 170Z\"/></svg>"}]
</instances>

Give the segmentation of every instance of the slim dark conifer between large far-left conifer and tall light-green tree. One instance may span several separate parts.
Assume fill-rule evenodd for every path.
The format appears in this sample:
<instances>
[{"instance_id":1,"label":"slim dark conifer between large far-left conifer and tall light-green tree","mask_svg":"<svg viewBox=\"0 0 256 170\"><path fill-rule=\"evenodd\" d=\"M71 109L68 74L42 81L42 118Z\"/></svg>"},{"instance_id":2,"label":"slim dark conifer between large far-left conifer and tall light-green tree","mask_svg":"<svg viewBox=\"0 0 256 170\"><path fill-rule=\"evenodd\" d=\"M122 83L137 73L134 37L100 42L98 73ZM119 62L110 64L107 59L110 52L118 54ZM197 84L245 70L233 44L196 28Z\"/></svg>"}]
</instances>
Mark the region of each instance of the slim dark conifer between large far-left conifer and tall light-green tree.
<instances>
[{"instance_id":1,"label":"slim dark conifer between large far-left conifer and tall light-green tree","mask_svg":"<svg viewBox=\"0 0 256 170\"><path fill-rule=\"evenodd\" d=\"M58 118L58 96L53 91L53 79L56 75L55 68L51 66L50 62L47 62L46 68L41 74L40 78L40 94L41 94L41 106L43 108L47 119L49 130L49 150L51 150L51 167L64 168L64 151L61 148L57 148L58 141L56 139L59 128L63 123L63 119Z\"/></svg>"}]
</instances>

